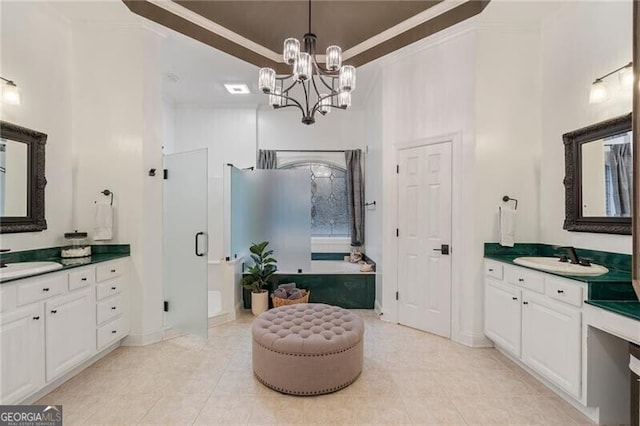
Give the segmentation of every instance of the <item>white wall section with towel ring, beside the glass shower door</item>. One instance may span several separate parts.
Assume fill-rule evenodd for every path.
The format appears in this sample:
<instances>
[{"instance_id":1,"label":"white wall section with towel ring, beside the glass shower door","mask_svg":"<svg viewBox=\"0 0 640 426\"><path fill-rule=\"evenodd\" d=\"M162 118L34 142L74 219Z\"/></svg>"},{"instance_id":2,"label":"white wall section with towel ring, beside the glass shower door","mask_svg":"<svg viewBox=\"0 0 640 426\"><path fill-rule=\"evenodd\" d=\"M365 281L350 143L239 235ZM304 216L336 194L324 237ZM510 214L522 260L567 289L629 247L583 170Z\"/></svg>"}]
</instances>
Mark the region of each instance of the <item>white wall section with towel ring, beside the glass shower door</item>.
<instances>
[{"instance_id":1,"label":"white wall section with towel ring, beside the glass shower door","mask_svg":"<svg viewBox=\"0 0 640 426\"><path fill-rule=\"evenodd\" d=\"M139 25L76 24L73 39L75 223L93 230L94 201L114 193L114 238L131 244L132 344L162 337L160 38Z\"/></svg>"}]
</instances>

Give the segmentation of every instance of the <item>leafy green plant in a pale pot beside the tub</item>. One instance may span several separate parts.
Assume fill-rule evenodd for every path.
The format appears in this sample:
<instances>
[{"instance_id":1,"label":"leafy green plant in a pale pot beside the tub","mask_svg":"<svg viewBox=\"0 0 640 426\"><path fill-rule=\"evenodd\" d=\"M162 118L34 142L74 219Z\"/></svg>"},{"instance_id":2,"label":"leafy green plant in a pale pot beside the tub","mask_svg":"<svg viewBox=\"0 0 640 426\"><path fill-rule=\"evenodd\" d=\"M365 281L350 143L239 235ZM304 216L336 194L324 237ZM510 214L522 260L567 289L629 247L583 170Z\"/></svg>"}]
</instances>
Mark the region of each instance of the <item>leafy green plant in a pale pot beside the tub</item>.
<instances>
[{"instance_id":1,"label":"leafy green plant in a pale pot beside the tub","mask_svg":"<svg viewBox=\"0 0 640 426\"><path fill-rule=\"evenodd\" d=\"M271 255L273 250L267 250L268 241L253 243L249 248L253 266L250 266L240 281L242 287L251 291L251 312L260 315L269 309L269 292L264 289L271 276L278 270Z\"/></svg>"}]
</instances>

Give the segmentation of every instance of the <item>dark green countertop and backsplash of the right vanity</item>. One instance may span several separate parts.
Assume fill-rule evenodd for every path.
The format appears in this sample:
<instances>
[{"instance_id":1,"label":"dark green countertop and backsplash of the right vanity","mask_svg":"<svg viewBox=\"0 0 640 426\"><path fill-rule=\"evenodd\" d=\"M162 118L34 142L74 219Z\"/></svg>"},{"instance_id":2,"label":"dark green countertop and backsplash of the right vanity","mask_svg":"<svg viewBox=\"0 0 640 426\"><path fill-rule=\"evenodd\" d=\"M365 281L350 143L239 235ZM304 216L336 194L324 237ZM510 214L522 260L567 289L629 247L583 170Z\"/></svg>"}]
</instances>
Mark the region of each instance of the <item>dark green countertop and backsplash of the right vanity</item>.
<instances>
[{"instance_id":1,"label":"dark green countertop and backsplash of the right vanity","mask_svg":"<svg viewBox=\"0 0 640 426\"><path fill-rule=\"evenodd\" d=\"M487 259L515 265L513 260L517 257L555 256L564 254L564 250L554 249L554 246L548 244L523 243L516 244L514 247L501 247L498 243L485 243L484 253ZM640 301L631 285L631 255L580 248L576 248L576 253L581 258L585 257L594 263L606 266L609 272L597 277L547 271L544 273L585 282L589 289L585 303L640 321ZM522 265L516 266L526 268ZM537 271L534 268L527 269Z\"/></svg>"}]
</instances>

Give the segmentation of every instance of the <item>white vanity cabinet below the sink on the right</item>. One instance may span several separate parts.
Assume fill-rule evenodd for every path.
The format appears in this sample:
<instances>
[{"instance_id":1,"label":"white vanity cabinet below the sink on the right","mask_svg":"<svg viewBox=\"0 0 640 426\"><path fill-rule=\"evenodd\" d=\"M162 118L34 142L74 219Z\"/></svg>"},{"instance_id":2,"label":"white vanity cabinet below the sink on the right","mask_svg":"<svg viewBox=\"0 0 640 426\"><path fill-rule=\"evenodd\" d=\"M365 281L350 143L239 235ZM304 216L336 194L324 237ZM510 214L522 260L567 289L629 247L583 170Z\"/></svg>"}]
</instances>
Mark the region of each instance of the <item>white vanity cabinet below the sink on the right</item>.
<instances>
[{"instance_id":1,"label":"white vanity cabinet below the sink on the right","mask_svg":"<svg viewBox=\"0 0 640 426\"><path fill-rule=\"evenodd\" d=\"M582 396L584 286L485 260L486 336L577 400Z\"/></svg>"}]
</instances>

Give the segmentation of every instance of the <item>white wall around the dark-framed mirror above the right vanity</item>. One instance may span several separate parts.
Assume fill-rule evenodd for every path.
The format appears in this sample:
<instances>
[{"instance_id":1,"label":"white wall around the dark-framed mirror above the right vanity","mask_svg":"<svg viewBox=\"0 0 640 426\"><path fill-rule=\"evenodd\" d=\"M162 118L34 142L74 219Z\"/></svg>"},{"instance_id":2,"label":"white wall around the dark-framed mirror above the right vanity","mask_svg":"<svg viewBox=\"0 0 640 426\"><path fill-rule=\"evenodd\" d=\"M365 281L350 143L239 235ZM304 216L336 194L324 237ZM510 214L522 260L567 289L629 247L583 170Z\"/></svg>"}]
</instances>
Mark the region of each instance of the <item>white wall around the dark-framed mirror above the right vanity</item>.
<instances>
[{"instance_id":1,"label":"white wall around the dark-framed mirror above the right vanity","mask_svg":"<svg viewBox=\"0 0 640 426\"><path fill-rule=\"evenodd\" d=\"M562 134L631 111L630 91L588 102L593 80L631 61L631 9L631 1L569 2L543 22L540 242L631 253L631 236L562 229ZM616 91L616 76L605 81Z\"/></svg>"}]
</instances>

